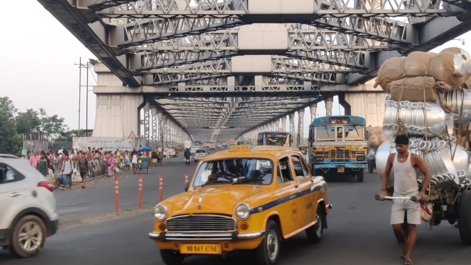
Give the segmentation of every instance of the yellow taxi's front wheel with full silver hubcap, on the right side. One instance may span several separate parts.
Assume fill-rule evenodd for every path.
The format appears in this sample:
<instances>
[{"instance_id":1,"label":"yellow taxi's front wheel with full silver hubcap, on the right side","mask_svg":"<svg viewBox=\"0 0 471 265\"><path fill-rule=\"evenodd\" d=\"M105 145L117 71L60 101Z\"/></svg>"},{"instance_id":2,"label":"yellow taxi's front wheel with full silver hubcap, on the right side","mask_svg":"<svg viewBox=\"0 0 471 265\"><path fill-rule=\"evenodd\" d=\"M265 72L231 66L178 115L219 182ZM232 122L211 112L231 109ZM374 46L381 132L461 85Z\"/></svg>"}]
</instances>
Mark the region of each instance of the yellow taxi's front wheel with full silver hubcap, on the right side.
<instances>
[{"instance_id":1,"label":"yellow taxi's front wheel with full silver hubcap, on the right side","mask_svg":"<svg viewBox=\"0 0 471 265\"><path fill-rule=\"evenodd\" d=\"M257 263L260 265L275 265L280 254L281 236L278 225L268 220L265 238L255 250Z\"/></svg>"}]
</instances>

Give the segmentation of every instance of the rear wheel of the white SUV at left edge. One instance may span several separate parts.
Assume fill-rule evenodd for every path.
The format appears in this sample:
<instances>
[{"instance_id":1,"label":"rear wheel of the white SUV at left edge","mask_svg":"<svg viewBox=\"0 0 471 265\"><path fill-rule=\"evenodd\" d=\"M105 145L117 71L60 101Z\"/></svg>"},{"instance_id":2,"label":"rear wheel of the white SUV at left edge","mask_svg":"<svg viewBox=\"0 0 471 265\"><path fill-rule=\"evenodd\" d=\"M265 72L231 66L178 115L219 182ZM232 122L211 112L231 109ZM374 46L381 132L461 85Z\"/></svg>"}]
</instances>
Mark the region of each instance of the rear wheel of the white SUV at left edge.
<instances>
[{"instance_id":1,"label":"rear wheel of the white SUV at left edge","mask_svg":"<svg viewBox=\"0 0 471 265\"><path fill-rule=\"evenodd\" d=\"M19 257L36 256L46 241L46 225L35 215L23 216L13 227L10 251Z\"/></svg>"}]
</instances>

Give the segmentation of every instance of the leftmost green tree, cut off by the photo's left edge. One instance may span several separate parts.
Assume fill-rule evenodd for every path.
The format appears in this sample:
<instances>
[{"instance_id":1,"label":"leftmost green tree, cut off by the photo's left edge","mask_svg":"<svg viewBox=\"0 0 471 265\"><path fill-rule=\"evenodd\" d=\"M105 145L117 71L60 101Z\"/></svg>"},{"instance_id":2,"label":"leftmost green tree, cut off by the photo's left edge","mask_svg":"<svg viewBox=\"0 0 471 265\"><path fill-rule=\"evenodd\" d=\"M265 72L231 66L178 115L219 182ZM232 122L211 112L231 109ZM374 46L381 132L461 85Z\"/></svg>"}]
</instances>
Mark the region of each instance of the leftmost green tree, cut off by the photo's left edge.
<instances>
[{"instance_id":1,"label":"leftmost green tree, cut off by the photo's left edge","mask_svg":"<svg viewBox=\"0 0 471 265\"><path fill-rule=\"evenodd\" d=\"M8 97L0 97L0 153L19 155L21 136L16 133L14 115L17 109Z\"/></svg>"}]
</instances>

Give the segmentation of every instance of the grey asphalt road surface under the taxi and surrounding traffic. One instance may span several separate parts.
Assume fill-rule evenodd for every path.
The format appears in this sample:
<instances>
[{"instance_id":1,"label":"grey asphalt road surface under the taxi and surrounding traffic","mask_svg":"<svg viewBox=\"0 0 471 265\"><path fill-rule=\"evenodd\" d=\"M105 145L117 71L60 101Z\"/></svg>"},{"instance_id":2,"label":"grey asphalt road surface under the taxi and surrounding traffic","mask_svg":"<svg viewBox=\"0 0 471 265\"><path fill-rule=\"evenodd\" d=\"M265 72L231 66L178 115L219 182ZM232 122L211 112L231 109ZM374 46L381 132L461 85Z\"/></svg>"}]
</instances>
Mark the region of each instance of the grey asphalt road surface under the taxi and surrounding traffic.
<instances>
[{"instance_id":1,"label":"grey asphalt road surface under the taxi and surrounding traffic","mask_svg":"<svg viewBox=\"0 0 471 265\"><path fill-rule=\"evenodd\" d=\"M175 160L180 161L175 161ZM164 197L181 192L183 174L194 170L195 163L186 166L174 158L164 166L151 168L152 174L144 176L144 201L153 205L157 197L157 175L164 175ZM169 160L167 160L169 161ZM120 176L122 205L134 207L137 198L137 176ZM376 174L366 174L365 182L354 178L331 179L329 198L333 204L327 216L329 228L323 240L310 245L304 233L284 241L280 265L400 265L400 245L394 238L389 224L390 202L374 200L380 190ZM75 195L74 193L77 193ZM113 181L99 181L95 187L80 191L58 191L62 199L61 215L98 213L114 209ZM89 205L91 204L91 205ZM67 210L75 208L75 210ZM37 257L16 259L6 251L0 251L2 265L162 265L159 250L147 237L153 230L151 212L95 225L79 226L59 231L48 238L46 246ZM470 247L461 244L458 230L442 222L433 227L422 224L413 259L416 265L469 265ZM253 260L249 253L222 257L189 257L186 264L239 265Z\"/></svg>"}]
</instances>

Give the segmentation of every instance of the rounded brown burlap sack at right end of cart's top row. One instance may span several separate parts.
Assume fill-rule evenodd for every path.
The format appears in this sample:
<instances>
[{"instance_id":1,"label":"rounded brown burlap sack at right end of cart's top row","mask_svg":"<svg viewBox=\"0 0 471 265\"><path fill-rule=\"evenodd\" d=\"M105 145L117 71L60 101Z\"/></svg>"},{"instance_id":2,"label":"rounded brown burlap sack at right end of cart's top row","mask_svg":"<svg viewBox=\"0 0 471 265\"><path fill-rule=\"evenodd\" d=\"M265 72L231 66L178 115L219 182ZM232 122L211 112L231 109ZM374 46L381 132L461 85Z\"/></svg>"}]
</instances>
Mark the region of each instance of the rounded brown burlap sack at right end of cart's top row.
<instances>
[{"instance_id":1,"label":"rounded brown burlap sack at right end of cart's top row","mask_svg":"<svg viewBox=\"0 0 471 265\"><path fill-rule=\"evenodd\" d=\"M452 90L457 89L464 81L463 75L455 72L455 54L449 51L442 51L437 56L430 59L429 75L436 81L445 81Z\"/></svg>"}]
</instances>

